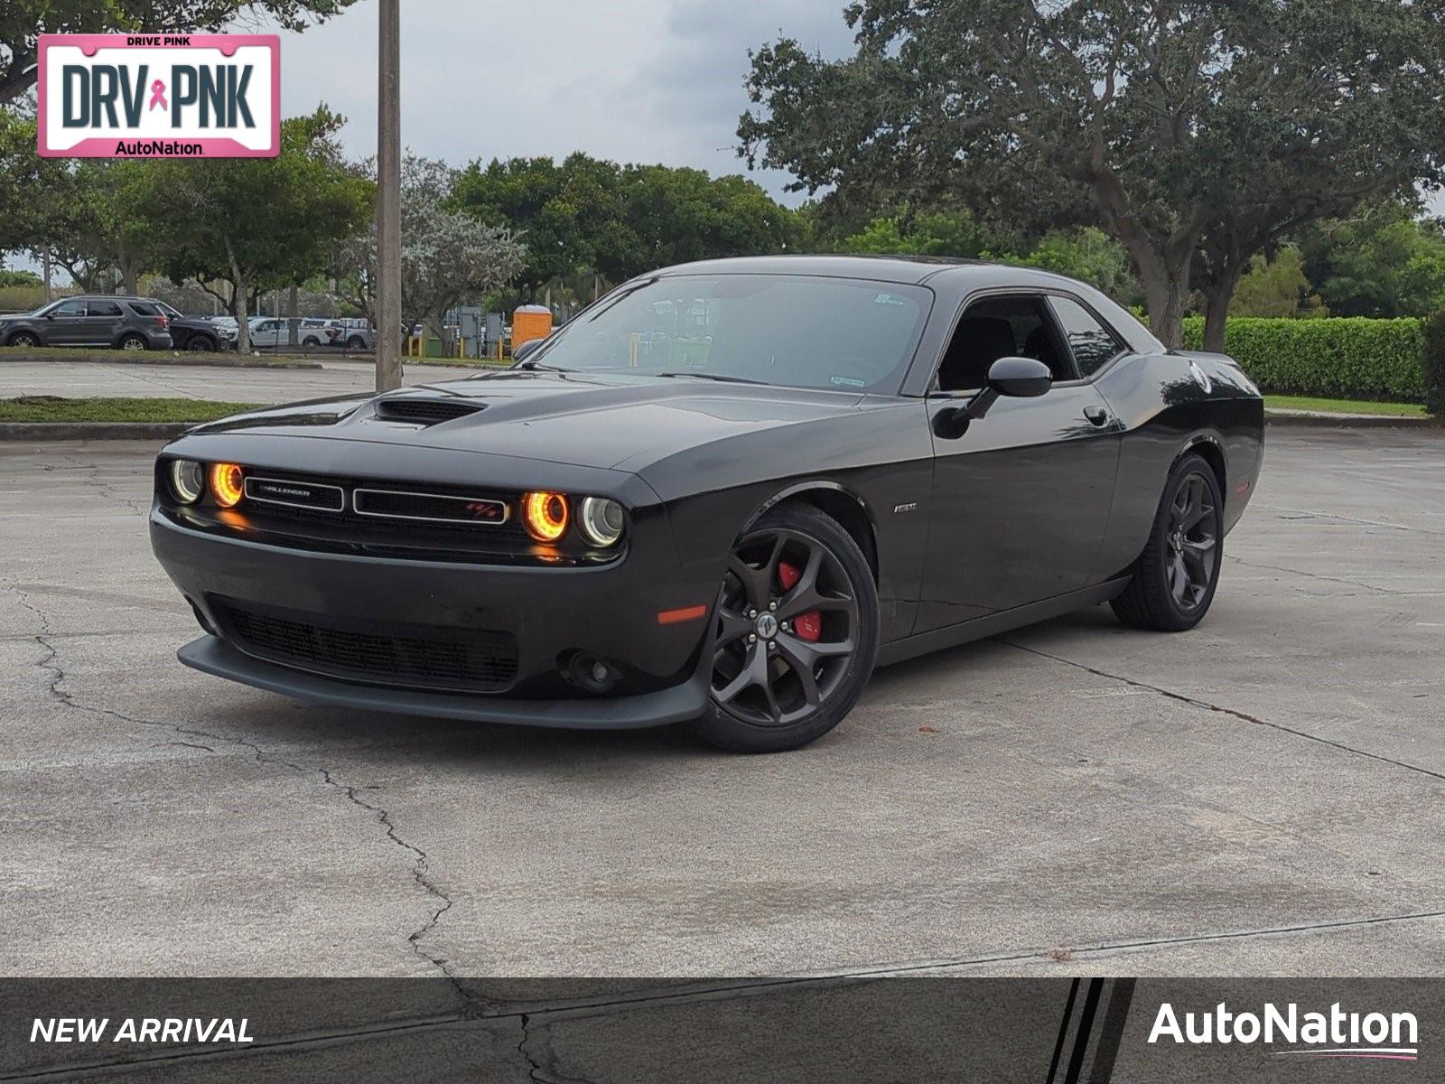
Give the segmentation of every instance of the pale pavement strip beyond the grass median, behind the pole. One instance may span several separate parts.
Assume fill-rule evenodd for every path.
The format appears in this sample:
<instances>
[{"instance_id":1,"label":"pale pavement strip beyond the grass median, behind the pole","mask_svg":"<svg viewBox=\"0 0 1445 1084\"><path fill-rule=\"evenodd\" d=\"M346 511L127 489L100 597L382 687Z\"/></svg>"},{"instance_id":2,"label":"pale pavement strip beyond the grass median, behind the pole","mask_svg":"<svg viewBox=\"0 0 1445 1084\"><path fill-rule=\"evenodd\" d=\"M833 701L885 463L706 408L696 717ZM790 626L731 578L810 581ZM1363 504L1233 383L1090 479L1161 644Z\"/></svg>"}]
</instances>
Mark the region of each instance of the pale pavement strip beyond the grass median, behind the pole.
<instances>
[{"instance_id":1,"label":"pale pavement strip beyond the grass median, behind the pole","mask_svg":"<svg viewBox=\"0 0 1445 1084\"><path fill-rule=\"evenodd\" d=\"M460 380L474 370L403 366L407 384ZM220 369L210 366L107 364L104 361L7 361L0 399L22 395L214 399L223 403L290 403L376 387L370 361L325 360L321 369Z\"/></svg>"}]
</instances>

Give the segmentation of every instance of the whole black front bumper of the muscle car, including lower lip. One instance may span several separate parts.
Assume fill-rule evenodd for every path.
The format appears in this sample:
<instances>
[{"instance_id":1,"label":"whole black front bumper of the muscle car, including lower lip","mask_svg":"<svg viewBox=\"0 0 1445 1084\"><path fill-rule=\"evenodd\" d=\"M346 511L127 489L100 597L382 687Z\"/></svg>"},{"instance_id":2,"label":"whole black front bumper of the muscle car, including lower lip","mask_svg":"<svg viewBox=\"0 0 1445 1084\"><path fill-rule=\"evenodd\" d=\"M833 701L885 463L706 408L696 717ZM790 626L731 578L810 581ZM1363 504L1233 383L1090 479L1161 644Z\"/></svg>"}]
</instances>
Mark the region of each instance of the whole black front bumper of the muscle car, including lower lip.
<instances>
[{"instance_id":1,"label":"whole black front bumper of the muscle car, including lower lip","mask_svg":"<svg viewBox=\"0 0 1445 1084\"><path fill-rule=\"evenodd\" d=\"M708 594L683 580L670 538L666 546L634 539L603 567L484 565L218 536L158 506L150 539L214 633L182 648L181 661L231 681L312 702L535 726L644 727L707 707L708 621L659 621L660 611L698 606ZM507 674L481 685L392 672L386 662L373 669L374 655L338 671L332 659L276 655L275 642L259 643L236 621L237 610L275 614L288 635L298 621L322 629L322 640L325 629L342 630L337 642L347 650L370 650L373 635L393 636L423 669L438 643L449 648L448 637L504 637L513 648ZM428 636L435 642L418 639ZM578 655L605 661L618 676L605 691L590 691L568 663Z\"/></svg>"}]
</instances>

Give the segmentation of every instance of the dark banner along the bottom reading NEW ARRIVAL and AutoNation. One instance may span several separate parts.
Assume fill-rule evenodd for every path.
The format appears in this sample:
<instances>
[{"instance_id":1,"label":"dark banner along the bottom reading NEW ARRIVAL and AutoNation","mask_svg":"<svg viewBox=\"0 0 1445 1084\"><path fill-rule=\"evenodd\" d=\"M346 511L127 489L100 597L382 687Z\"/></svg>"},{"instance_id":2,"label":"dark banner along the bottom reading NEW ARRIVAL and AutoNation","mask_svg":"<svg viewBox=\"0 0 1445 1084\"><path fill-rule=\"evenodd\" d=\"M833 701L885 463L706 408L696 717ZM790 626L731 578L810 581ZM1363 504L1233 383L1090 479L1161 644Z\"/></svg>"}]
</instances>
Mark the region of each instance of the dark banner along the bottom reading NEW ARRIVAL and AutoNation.
<instances>
[{"instance_id":1,"label":"dark banner along the bottom reading NEW ARRIVAL and AutoNation","mask_svg":"<svg viewBox=\"0 0 1445 1084\"><path fill-rule=\"evenodd\" d=\"M1435 980L7 980L0 1081L1425 1081Z\"/></svg>"}]
</instances>

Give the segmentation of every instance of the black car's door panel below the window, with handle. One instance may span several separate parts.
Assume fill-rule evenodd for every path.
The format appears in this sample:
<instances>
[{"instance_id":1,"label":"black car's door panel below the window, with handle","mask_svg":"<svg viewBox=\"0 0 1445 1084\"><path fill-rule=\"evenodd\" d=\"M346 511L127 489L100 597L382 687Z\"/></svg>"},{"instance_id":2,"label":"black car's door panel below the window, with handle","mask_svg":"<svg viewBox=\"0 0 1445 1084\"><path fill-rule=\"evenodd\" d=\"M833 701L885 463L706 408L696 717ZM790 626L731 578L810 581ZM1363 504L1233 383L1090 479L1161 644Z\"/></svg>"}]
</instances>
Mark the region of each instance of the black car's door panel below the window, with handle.
<instances>
[{"instance_id":1,"label":"black car's door panel below the window, with handle","mask_svg":"<svg viewBox=\"0 0 1445 1084\"><path fill-rule=\"evenodd\" d=\"M931 399L929 419L958 405ZM1091 386L1062 384L1036 399L998 399L958 439L935 435L915 632L1087 587L1108 525L1120 429Z\"/></svg>"}]
</instances>

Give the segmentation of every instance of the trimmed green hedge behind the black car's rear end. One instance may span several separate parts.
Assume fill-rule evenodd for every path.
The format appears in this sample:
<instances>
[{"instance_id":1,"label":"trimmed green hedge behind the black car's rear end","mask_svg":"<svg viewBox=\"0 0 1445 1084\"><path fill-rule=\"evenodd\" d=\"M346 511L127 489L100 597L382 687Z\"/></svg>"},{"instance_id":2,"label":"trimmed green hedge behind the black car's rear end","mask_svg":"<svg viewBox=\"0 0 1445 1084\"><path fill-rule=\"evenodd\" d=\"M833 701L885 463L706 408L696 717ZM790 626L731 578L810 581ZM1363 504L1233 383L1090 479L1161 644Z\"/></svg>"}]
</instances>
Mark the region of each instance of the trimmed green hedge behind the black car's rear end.
<instances>
[{"instance_id":1,"label":"trimmed green hedge behind the black car's rear end","mask_svg":"<svg viewBox=\"0 0 1445 1084\"><path fill-rule=\"evenodd\" d=\"M1225 353L1264 392L1340 399L1425 400L1425 321L1234 317ZM1204 318L1183 322L1185 350L1204 343Z\"/></svg>"}]
</instances>

